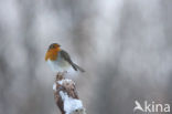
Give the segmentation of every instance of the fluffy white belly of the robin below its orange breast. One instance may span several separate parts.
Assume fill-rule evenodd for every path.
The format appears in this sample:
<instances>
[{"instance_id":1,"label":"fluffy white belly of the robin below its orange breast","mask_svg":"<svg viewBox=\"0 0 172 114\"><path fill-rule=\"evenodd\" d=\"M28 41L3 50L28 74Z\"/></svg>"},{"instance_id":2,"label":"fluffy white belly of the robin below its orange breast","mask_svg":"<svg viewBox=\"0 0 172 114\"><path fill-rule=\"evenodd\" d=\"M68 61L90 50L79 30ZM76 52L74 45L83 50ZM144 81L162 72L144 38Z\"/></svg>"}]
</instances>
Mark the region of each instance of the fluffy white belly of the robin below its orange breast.
<instances>
[{"instance_id":1,"label":"fluffy white belly of the robin below its orange breast","mask_svg":"<svg viewBox=\"0 0 172 114\"><path fill-rule=\"evenodd\" d=\"M64 72L71 68L71 64L62 58L58 58L56 61L49 59L47 63L54 72Z\"/></svg>"}]
</instances>

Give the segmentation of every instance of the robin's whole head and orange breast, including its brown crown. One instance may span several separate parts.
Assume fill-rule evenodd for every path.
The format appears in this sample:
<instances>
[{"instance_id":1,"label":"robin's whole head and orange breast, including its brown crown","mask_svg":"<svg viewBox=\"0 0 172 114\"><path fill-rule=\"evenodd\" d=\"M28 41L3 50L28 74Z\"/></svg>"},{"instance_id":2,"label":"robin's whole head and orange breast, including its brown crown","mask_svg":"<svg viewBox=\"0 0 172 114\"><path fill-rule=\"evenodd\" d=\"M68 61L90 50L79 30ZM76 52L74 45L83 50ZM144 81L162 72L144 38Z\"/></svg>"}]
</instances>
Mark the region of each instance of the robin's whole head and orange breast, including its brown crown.
<instances>
[{"instance_id":1,"label":"robin's whole head and orange breast, including its brown crown","mask_svg":"<svg viewBox=\"0 0 172 114\"><path fill-rule=\"evenodd\" d=\"M47 52L45 54L45 61L50 60L56 60L57 59L57 52L61 50L61 45L58 43L52 43Z\"/></svg>"}]
</instances>

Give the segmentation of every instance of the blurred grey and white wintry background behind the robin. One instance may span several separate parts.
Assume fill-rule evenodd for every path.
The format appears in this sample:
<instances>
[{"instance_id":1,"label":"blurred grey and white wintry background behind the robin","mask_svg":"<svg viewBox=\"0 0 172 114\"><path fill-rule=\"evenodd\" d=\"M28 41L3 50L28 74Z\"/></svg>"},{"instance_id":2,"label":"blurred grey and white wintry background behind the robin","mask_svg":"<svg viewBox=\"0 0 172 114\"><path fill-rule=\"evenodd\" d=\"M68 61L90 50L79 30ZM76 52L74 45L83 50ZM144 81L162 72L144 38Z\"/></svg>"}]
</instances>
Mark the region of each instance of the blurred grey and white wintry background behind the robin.
<instances>
[{"instance_id":1,"label":"blurred grey and white wintry background behind the robin","mask_svg":"<svg viewBox=\"0 0 172 114\"><path fill-rule=\"evenodd\" d=\"M88 114L172 105L171 11L171 0L0 0L0 114L57 114L52 42L86 70L72 79Z\"/></svg>"}]
</instances>

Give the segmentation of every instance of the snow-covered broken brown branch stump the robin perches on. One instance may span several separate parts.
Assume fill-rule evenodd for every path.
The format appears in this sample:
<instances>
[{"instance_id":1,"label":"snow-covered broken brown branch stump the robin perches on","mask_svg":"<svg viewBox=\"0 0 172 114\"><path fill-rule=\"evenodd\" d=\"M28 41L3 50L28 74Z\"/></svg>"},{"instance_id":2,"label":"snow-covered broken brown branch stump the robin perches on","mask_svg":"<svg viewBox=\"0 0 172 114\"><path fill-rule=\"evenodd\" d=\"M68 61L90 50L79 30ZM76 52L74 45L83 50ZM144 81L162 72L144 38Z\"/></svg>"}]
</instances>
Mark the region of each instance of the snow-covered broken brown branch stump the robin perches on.
<instances>
[{"instance_id":1,"label":"snow-covered broken brown branch stump the robin perches on","mask_svg":"<svg viewBox=\"0 0 172 114\"><path fill-rule=\"evenodd\" d=\"M86 114L83 103L78 99L74 81L64 79L63 75L63 73L58 73L53 85L56 105L62 114Z\"/></svg>"}]
</instances>

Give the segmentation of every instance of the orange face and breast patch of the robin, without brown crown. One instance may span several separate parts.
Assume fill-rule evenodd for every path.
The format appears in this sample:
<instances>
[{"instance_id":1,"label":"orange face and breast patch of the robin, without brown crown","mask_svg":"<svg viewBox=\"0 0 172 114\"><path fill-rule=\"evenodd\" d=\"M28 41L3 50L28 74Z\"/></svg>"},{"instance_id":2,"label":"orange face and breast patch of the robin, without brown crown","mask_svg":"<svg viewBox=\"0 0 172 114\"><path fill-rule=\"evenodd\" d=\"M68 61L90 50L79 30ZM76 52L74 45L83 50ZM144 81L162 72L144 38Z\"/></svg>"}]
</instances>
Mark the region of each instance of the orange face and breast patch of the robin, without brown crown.
<instances>
[{"instance_id":1,"label":"orange face and breast patch of the robin, without brown crown","mask_svg":"<svg viewBox=\"0 0 172 114\"><path fill-rule=\"evenodd\" d=\"M58 54L58 51L61 49L50 49L47 50L46 54L45 54L45 61L47 61L49 59L52 60L52 61L55 61L57 60L57 54Z\"/></svg>"}]
</instances>

